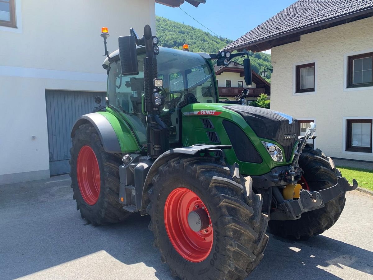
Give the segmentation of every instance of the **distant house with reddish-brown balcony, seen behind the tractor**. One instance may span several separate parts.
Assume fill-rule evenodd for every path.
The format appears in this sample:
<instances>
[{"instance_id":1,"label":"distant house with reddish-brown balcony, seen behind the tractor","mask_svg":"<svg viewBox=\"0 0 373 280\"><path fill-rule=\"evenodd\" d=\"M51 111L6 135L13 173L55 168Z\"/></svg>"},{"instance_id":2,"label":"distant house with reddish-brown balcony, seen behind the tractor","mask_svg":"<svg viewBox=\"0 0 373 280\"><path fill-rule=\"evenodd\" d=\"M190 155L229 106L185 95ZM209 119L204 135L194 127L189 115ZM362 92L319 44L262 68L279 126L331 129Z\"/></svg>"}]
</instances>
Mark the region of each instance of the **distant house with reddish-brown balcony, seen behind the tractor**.
<instances>
[{"instance_id":1,"label":"distant house with reddish-brown balcony, seen behind the tractor","mask_svg":"<svg viewBox=\"0 0 373 280\"><path fill-rule=\"evenodd\" d=\"M271 85L264 80L256 72L251 71L253 84L248 87L244 81L244 66L240 63L231 60L226 66L214 65L216 80L219 86L219 97L226 97L229 100L235 100L242 92L242 88L248 88L247 105L251 101L256 100L262 93L266 93L268 97L271 93Z\"/></svg>"}]
</instances>

